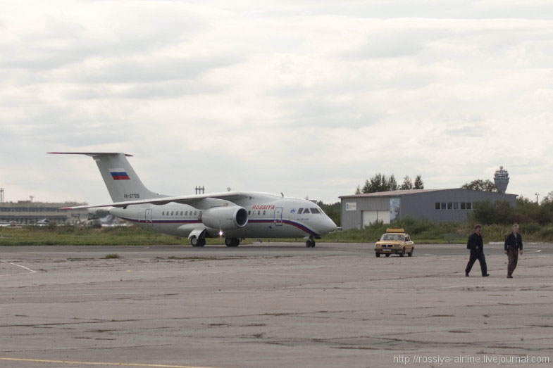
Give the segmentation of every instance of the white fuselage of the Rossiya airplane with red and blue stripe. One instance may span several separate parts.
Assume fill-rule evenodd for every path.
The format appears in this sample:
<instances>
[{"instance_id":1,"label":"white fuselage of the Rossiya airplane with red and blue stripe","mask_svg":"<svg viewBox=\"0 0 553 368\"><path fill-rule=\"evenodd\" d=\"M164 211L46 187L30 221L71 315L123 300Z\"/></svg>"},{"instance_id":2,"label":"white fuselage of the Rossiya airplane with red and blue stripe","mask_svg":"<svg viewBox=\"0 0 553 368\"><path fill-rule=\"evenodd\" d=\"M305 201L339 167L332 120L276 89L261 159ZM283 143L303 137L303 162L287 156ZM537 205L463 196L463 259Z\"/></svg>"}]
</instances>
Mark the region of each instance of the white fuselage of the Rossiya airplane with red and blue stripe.
<instances>
[{"instance_id":1,"label":"white fuselage of the Rossiya airplane with red and blue stripe","mask_svg":"<svg viewBox=\"0 0 553 368\"><path fill-rule=\"evenodd\" d=\"M202 222L202 210L186 204L128 205L126 208L111 208L109 212L139 227L183 237L194 230L206 229L210 237L318 238L336 229L330 217L311 201L265 193L249 194L247 198L234 202L247 210L247 224L224 229L223 234L220 234L221 229L207 227Z\"/></svg>"}]
</instances>

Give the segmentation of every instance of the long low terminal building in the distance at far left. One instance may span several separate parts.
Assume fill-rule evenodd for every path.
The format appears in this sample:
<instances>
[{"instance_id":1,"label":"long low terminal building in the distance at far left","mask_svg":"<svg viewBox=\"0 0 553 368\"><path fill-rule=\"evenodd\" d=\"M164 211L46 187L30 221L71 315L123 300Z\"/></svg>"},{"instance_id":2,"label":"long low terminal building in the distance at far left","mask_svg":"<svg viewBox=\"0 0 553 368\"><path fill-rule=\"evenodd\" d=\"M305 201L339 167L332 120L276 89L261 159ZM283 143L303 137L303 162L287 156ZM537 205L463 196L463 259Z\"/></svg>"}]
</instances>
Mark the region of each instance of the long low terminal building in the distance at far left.
<instances>
[{"instance_id":1,"label":"long low terminal building in the distance at far left","mask_svg":"<svg viewBox=\"0 0 553 368\"><path fill-rule=\"evenodd\" d=\"M36 224L41 220L61 224L76 224L87 220L88 211L60 210L61 207L83 205L83 203L44 203L32 201L1 202L0 222L14 222L16 224Z\"/></svg>"}]
</instances>

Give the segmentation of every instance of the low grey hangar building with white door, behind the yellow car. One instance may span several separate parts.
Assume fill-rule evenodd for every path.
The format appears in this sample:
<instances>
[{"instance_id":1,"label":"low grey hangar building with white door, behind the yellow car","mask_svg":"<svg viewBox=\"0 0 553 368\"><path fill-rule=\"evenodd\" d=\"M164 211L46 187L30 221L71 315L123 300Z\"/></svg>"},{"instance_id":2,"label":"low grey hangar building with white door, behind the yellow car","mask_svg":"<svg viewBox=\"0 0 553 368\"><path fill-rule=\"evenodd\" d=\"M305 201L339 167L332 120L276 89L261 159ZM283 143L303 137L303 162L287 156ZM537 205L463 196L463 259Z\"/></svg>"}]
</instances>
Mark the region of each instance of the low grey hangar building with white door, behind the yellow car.
<instances>
[{"instance_id":1,"label":"low grey hangar building with white door, behind the yellow car","mask_svg":"<svg viewBox=\"0 0 553 368\"><path fill-rule=\"evenodd\" d=\"M410 189L341 196L342 229L361 229L375 221L390 224L399 217L435 222L464 222L473 203L507 201L516 194L469 189Z\"/></svg>"}]
</instances>

